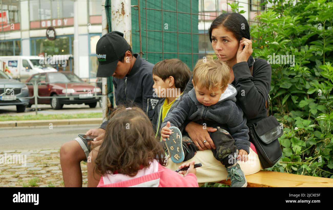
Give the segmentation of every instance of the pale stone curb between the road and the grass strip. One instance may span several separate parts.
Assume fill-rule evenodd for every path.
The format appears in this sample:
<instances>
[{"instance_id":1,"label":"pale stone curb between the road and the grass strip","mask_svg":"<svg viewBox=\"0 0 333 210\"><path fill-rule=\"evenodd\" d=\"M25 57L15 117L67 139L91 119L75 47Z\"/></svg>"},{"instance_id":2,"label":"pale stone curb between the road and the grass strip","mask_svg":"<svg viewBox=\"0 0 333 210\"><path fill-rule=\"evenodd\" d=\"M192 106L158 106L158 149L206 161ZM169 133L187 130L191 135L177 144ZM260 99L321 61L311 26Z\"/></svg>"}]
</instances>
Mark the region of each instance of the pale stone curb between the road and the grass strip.
<instances>
[{"instance_id":1,"label":"pale stone curb between the road and the grass strip","mask_svg":"<svg viewBox=\"0 0 333 210\"><path fill-rule=\"evenodd\" d=\"M102 124L102 118L78 118L63 120L18 120L18 121L2 121L0 128L4 127L27 127L27 126L50 126L52 125L81 125L81 124Z\"/></svg>"}]
</instances>

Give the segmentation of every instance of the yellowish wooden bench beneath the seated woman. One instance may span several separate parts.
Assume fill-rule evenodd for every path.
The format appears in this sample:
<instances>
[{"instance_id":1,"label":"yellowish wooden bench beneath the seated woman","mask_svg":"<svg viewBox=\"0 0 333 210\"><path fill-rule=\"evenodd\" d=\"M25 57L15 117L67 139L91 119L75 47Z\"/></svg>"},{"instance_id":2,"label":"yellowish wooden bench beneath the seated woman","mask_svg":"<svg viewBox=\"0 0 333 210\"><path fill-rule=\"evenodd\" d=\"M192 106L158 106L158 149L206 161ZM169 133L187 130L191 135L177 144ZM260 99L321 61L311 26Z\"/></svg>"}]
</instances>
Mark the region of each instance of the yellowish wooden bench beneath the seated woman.
<instances>
[{"instance_id":1,"label":"yellowish wooden bench beneath the seated woman","mask_svg":"<svg viewBox=\"0 0 333 210\"><path fill-rule=\"evenodd\" d=\"M333 187L333 179L260 170L245 176L248 187ZM218 183L230 185L228 180Z\"/></svg>"}]
</instances>

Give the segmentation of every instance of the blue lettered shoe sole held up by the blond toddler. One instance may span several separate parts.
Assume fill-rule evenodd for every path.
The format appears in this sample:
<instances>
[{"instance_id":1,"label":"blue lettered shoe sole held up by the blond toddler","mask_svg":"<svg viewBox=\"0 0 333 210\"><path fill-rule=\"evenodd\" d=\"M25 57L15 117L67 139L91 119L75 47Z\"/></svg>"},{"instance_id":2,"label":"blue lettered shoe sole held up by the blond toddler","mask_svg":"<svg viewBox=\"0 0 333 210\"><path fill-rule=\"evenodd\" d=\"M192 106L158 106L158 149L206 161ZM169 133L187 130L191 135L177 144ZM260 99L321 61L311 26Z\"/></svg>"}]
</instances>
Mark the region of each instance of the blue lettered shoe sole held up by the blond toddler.
<instances>
[{"instance_id":1,"label":"blue lettered shoe sole held up by the blond toddler","mask_svg":"<svg viewBox=\"0 0 333 210\"><path fill-rule=\"evenodd\" d=\"M182 136L181 132L177 127L169 128L172 134L169 135L169 138L166 138L166 149L171 157L172 162L180 163L184 161L185 154L182 147Z\"/></svg>"}]
</instances>

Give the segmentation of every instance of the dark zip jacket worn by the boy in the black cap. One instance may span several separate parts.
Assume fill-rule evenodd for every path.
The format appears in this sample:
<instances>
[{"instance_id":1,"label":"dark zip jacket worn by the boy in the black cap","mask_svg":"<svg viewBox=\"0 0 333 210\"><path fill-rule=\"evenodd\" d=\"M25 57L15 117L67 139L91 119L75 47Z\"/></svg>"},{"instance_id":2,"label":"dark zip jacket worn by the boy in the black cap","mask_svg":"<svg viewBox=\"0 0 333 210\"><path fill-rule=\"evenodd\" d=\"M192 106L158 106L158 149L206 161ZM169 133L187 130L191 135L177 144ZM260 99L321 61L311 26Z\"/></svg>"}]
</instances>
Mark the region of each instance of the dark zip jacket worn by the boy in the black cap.
<instances>
[{"instance_id":1,"label":"dark zip jacket worn by the boy in the black cap","mask_svg":"<svg viewBox=\"0 0 333 210\"><path fill-rule=\"evenodd\" d=\"M113 78L116 105L141 107L152 121L155 107L160 100L155 97L153 89L154 64L141 58L138 53L134 56L137 59L131 72L122 79ZM103 122L100 128L106 129L107 124L108 121Z\"/></svg>"}]
</instances>

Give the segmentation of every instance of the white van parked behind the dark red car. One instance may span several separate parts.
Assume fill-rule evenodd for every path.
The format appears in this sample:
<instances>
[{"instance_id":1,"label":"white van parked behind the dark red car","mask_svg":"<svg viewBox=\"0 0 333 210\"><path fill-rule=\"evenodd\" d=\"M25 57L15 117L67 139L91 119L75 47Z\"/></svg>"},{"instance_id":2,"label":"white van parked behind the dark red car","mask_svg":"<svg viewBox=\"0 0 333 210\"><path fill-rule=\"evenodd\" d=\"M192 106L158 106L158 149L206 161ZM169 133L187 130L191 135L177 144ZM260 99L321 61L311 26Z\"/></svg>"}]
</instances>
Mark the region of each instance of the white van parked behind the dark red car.
<instances>
[{"instance_id":1,"label":"white van parked behind the dark red car","mask_svg":"<svg viewBox=\"0 0 333 210\"><path fill-rule=\"evenodd\" d=\"M57 71L39 56L0 56L0 62L2 71L21 81L33 74Z\"/></svg>"}]
</instances>

